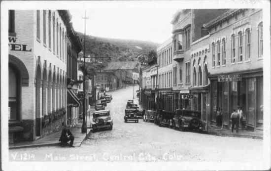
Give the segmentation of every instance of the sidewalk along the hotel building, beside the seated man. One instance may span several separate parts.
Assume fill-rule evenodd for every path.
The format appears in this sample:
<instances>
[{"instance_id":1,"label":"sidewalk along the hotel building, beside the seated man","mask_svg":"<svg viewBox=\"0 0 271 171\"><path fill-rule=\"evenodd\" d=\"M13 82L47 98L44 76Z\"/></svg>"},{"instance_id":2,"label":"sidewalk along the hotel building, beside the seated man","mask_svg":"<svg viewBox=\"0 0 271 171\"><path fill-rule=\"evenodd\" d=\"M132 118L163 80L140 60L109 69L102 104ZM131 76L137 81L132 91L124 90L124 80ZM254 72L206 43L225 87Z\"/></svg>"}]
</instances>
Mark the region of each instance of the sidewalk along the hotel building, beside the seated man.
<instances>
[{"instance_id":1,"label":"sidewalk along the hotel building, beside the seated man","mask_svg":"<svg viewBox=\"0 0 271 171\"><path fill-rule=\"evenodd\" d=\"M91 107L90 111L87 112L87 136L90 135L90 122L89 122L89 113L93 113L94 107ZM81 132L82 120L78 121L78 125L70 128L73 136L74 142L73 145L75 147L80 147L82 142L86 139L86 133ZM15 148L27 148L27 147L42 147L42 146L55 146L60 145L59 137L61 135L61 130L58 132L54 132L50 135L37 139L35 141L27 141L27 142L19 142L14 144L9 144L9 149Z\"/></svg>"}]
</instances>

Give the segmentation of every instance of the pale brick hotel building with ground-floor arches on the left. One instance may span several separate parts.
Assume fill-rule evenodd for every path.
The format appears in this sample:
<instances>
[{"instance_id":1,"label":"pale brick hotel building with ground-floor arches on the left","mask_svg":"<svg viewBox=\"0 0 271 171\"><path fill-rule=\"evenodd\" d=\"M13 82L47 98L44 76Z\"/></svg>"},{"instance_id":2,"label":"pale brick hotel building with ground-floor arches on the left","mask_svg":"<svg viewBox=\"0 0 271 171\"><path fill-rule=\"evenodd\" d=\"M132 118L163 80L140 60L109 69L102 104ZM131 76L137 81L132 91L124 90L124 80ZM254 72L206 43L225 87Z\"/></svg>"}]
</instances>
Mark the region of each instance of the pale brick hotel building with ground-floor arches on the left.
<instances>
[{"instance_id":1,"label":"pale brick hotel building with ground-floor arches on the left","mask_svg":"<svg viewBox=\"0 0 271 171\"><path fill-rule=\"evenodd\" d=\"M9 10L10 142L66 122L68 23L66 10Z\"/></svg>"}]
</instances>

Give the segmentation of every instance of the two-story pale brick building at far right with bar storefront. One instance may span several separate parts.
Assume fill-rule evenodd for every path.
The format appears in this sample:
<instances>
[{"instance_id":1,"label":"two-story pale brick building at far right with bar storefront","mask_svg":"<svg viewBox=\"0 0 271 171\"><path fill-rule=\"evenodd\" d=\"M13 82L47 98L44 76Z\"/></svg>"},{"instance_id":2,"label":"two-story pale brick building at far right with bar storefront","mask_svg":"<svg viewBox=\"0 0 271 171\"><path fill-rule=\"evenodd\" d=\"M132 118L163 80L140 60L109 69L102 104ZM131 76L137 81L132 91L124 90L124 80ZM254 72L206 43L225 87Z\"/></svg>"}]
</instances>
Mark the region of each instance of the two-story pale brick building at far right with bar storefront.
<instances>
[{"instance_id":1,"label":"two-story pale brick building at far right with bar storefront","mask_svg":"<svg viewBox=\"0 0 271 171\"><path fill-rule=\"evenodd\" d=\"M210 119L223 111L223 125L242 107L247 128L263 128L263 11L231 9L204 24L209 32Z\"/></svg>"}]
</instances>

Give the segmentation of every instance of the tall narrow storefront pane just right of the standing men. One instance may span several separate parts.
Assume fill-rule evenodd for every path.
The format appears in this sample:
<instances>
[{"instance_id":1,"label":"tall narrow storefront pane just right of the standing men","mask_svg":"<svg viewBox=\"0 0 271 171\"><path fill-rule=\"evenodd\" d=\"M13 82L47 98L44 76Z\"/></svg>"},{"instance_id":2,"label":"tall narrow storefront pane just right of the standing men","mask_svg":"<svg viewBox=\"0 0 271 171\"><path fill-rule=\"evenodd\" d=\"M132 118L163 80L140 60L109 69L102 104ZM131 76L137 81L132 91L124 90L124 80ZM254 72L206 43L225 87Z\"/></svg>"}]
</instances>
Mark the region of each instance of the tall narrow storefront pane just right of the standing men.
<instances>
[{"instance_id":1,"label":"tall narrow storefront pane just right of the standing men","mask_svg":"<svg viewBox=\"0 0 271 171\"><path fill-rule=\"evenodd\" d=\"M247 79L248 84L248 116L247 116L247 123L249 125L254 126L254 113L255 113L255 82L256 78L249 78Z\"/></svg>"}]
</instances>

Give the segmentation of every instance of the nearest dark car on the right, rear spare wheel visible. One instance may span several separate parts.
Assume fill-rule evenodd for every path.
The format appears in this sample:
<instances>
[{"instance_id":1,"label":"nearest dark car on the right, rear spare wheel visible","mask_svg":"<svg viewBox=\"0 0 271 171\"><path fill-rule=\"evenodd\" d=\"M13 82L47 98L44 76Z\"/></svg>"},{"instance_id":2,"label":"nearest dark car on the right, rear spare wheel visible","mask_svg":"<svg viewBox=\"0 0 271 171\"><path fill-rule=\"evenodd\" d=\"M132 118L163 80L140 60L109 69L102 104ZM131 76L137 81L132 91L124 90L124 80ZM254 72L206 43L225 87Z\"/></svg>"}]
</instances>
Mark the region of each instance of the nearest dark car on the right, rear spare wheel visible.
<instances>
[{"instance_id":1,"label":"nearest dark car on the right, rear spare wheel visible","mask_svg":"<svg viewBox=\"0 0 271 171\"><path fill-rule=\"evenodd\" d=\"M173 127L180 128L182 131L186 129L203 130L200 111L176 110L173 120Z\"/></svg>"}]
</instances>

